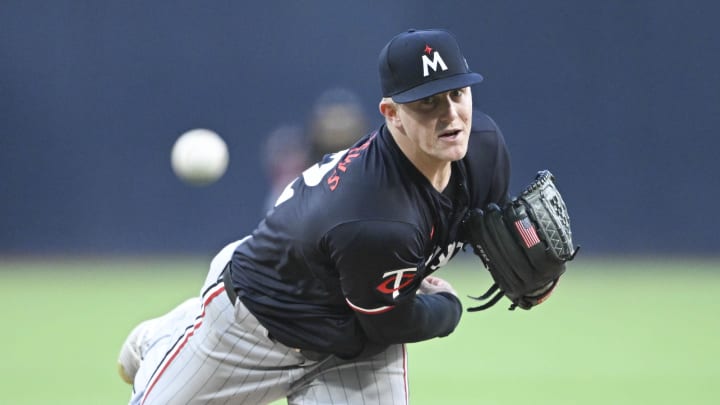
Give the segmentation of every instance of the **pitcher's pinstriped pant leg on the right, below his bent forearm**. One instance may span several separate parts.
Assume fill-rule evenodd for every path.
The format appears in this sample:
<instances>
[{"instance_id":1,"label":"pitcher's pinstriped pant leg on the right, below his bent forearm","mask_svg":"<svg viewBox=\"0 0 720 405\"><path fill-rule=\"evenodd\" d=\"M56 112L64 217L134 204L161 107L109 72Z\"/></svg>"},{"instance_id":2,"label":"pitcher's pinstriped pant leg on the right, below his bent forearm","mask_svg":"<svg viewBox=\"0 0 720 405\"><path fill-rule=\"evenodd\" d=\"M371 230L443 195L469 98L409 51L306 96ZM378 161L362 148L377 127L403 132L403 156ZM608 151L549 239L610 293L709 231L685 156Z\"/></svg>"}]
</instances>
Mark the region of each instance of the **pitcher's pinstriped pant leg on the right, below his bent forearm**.
<instances>
[{"instance_id":1,"label":"pitcher's pinstriped pant leg on the right, below his bent forearm","mask_svg":"<svg viewBox=\"0 0 720 405\"><path fill-rule=\"evenodd\" d=\"M289 405L407 405L407 351L394 345L371 358L332 358L293 386Z\"/></svg>"}]
</instances>

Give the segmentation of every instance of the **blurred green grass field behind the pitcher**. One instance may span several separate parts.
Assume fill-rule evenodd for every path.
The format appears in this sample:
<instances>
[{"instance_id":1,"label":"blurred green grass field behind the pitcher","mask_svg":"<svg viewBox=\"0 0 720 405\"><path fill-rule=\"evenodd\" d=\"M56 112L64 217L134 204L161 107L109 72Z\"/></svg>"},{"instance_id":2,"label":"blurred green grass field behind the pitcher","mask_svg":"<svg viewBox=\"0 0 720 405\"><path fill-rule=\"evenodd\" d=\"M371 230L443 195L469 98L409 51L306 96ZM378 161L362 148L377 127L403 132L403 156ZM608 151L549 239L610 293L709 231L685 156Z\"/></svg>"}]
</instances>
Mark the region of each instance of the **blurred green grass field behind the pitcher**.
<instances>
[{"instance_id":1,"label":"blurred green grass field behind the pitcher","mask_svg":"<svg viewBox=\"0 0 720 405\"><path fill-rule=\"evenodd\" d=\"M0 403L127 403L120 344L195 294L208 262L0 260ZM490 281L467 261L439 275L462 295ZM720 403L719 297L717 261L579 258L542 306L501 301L410 345L411 403Z\"/></svg>"}]
</instances>

